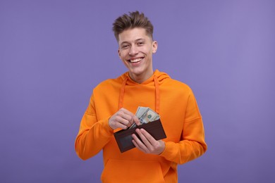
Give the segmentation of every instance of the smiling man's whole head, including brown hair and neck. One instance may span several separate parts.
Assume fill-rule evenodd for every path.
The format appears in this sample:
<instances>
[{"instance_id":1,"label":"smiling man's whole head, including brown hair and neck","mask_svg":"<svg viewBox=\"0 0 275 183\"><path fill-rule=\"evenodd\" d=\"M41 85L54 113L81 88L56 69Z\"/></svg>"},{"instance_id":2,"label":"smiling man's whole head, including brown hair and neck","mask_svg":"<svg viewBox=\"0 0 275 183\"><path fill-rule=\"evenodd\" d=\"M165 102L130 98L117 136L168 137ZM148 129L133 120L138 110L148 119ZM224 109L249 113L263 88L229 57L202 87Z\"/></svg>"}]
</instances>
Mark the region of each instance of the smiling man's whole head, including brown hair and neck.
<instances>
[{"instance_id":1,"label":"smiling man's whole head, including brown hair and neck","mask_svg":"<svg viewBox=\"0 0 275 183\"><path fill-rule=\"evenodd\" d=\"M135 82L142 83L153 75L152 54L157 51L153 25L143 13L135 11L117 18L113 27L118 41L118 56Z\"/></svg>"}]
</instances>

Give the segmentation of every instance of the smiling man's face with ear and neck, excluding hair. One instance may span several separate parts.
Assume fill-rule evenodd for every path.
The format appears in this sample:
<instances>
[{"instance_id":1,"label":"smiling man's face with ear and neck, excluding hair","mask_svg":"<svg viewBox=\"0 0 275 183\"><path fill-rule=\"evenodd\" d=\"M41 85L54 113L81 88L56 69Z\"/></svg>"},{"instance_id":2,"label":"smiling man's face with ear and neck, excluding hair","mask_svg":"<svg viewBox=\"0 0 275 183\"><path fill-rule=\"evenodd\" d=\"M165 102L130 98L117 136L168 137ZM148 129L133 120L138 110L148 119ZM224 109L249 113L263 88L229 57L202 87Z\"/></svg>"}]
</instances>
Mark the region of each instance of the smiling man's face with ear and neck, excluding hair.
<instances>
[{"instance_id":1,"label":"smiling man's face with ear and neck, excluding hair","mask_svg":"<svg viewBox=\"0 0 275 183\"><path fill-rule=\"evenodd\" d=\"M152 54L157 42L146 34L144 28L124 30L118 34L118 55L135 82L144 82L153 75Z\"/></svg>"}]
</instances>

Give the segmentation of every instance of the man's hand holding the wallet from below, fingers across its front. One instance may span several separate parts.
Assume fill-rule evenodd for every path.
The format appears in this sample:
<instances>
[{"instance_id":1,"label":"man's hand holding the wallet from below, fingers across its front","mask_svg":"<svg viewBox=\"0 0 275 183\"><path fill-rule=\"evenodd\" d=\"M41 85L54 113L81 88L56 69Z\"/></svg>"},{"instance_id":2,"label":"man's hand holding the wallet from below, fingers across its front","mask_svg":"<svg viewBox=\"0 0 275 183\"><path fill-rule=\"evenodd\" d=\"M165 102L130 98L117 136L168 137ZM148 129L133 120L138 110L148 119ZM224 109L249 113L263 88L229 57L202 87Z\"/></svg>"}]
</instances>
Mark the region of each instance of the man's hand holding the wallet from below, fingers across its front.
<instances>
[{"instance_id":1,"label":"man's hand holding the wallet from below, fingers across its front","mask_svg":"<svg viewBox=\"0 0 275 183\"><path fill-rule=\"evenodd\" d=\"M144 129L136 129L135 132L138 133L140 136L140 139L135 134L132 134L133 137L133 144L144 153L152 153L159 155L162 153L165 149L165 143L162 140L155 140L154 137L152 137L151 134L149 134Z\"/></svg>"}]
</instances>

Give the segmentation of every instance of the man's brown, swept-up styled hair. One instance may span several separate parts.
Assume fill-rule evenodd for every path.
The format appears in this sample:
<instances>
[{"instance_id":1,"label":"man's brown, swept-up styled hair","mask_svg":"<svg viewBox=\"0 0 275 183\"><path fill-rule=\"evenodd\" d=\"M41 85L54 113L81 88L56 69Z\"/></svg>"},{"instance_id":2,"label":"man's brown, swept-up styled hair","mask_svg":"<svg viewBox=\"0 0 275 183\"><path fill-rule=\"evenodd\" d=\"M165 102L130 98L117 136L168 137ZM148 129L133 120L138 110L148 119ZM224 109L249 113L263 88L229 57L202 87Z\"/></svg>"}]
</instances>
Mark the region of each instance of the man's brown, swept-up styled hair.
<instances>
[{"instance_id":1,"label":"man's brown, swept-up styled hair","mask_svg":"<svg viewBox=\"0 0 275 183\"><path fill-rule=\"evenodd\" d=\"M154 27L144 13L139 11L129 12L129 15L124 14L116 18L113 23L113 31L118 41L118 34L121 34L124 30L133 29L135 27L144 28L149 37L153 39Z\"/></svg>"}]
</instances>

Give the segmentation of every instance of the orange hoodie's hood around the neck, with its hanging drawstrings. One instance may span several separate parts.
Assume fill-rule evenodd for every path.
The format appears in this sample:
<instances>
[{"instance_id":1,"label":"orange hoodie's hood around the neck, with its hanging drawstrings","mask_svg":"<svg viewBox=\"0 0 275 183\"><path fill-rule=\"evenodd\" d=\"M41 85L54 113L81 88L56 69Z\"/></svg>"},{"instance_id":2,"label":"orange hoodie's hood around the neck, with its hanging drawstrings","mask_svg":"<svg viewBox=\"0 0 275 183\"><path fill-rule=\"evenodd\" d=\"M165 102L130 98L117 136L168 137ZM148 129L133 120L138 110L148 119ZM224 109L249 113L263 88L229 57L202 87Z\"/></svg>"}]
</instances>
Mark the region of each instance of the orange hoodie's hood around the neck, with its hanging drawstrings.
<instances>
[{"instance_id":1,"label":"orange hoodie's hood around the neck, with its hanging drawstrings","mask_svg":"<svg viewBox=\"0 0 275 183\"><path fill-rule=\"evenodd\" d=\"M145 85L152 85L154 84L155 87L155 96L156 96L156 113L159 113L159 106L160 106L160 90L159 90L159 85L161 85L164 80L169 79L169 75L167 75L165 72L159 72L159 70L155 70L154 74L149 77L145 82L138 83L133 81L130 76L129 72L124 73L121 75L121 79L123 80L121 84L121 92L119 94L119 101L118 101L118 110L123 107L123 99L124 99L124 93L125 93L125 88L126 85L138 85L138 84L145 84Z\"/></svg>"}]
</instances>

